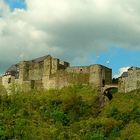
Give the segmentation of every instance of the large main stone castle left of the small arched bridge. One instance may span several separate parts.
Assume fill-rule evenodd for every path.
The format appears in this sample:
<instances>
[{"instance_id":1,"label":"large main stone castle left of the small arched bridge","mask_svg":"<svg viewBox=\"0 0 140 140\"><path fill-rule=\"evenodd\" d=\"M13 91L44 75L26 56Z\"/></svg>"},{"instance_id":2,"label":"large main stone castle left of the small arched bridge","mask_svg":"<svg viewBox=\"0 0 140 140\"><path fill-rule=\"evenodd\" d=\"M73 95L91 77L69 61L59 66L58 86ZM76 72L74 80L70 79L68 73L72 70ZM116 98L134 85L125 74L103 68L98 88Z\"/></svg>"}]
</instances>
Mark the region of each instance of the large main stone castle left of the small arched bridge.
<instances>
[{"instance_id":1,"label":"large main stone castle left of the small arched bridge","mask_svg":"<svg viewBox=\"0 0 140 140\"><path fill-rule=\"evenodd\" d=\"M112 69L102 65L70 67L70 64L50 55L12 65L2 77L9 88L20 85L24 90L60 89L66 86L91 84L102 87L112 83Z\"/></svg>"}]
</instances>

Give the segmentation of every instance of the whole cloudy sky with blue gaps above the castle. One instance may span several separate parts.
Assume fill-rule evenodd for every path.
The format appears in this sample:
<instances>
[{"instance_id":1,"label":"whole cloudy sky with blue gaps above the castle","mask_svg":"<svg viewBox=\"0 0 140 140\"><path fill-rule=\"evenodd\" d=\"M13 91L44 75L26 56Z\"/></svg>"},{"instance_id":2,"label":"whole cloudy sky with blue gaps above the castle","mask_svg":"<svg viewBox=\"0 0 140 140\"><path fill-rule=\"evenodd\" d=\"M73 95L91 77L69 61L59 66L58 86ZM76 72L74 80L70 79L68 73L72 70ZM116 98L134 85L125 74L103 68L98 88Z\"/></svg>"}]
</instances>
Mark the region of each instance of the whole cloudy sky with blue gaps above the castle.
<instances>
[{"instance_id":1,"label":"whole cloudy sky with blue gaps above the castle","mask_svg":"<svg viewBox=\"0 0 140 140\"><path fill-rule=\"evenodd\" d=\"M0 0L0 74L50 54L118 77L140 66L139 15L138 0Z\"/></svg>"}]
</instances>

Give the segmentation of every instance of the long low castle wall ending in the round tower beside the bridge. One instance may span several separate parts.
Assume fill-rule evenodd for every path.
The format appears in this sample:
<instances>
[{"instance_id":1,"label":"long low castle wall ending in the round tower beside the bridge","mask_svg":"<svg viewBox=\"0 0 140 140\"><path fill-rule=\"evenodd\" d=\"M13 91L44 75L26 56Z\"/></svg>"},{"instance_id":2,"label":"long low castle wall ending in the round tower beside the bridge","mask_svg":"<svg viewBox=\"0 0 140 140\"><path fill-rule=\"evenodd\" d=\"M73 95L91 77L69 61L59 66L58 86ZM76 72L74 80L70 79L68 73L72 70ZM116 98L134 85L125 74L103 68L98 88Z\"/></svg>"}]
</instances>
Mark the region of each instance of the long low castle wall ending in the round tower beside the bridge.
<instances>
[{"instance_id":1,"label":"long low castle wall ending in the round tower beside the bridge","mask_svg":"<svg viewBox=\"0 0 140 140\"><path fill-rule=\"evenodd\" d=\"M59 70L56 73L44 77L43 85L45 89L62 88L70 85L88 85L96 87L103 86L103 80L106 84L111 84L112 70L101 65L87 67L68 67L65 70Z\"/></svg>"}]
</instances>

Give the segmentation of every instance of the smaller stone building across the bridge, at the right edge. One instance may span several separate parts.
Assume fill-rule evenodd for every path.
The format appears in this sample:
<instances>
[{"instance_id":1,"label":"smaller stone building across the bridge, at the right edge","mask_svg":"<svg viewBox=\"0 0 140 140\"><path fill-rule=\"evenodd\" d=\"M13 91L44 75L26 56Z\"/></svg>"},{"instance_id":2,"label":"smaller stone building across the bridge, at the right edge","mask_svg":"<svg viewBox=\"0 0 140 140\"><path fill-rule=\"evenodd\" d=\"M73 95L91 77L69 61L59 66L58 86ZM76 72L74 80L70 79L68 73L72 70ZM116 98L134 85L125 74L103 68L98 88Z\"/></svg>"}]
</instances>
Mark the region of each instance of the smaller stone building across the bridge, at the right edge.
<instances>
[{"instance_id":1,"label":"smaller stone building across the bridge, at the right edge","mask_svg":"<svg viewBox=\"0 0 140 140\"><path fill-rule=\"evenodd\" d=\"M140 68L131 67L119 78L119 92L130 92L140 88Z\"/></svg>"}]
</instances>

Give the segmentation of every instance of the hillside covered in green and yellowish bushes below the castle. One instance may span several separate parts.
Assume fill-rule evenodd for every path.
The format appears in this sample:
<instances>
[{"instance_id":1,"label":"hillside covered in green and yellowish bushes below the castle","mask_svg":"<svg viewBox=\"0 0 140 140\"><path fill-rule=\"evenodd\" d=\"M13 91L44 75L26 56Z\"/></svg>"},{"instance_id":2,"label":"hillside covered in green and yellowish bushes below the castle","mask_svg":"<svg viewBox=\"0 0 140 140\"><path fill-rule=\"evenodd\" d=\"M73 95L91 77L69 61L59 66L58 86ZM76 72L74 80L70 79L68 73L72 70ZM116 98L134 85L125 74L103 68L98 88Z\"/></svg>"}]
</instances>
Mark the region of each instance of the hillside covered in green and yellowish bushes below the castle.
<instances>
[{"instance_id":1,"label":"hillside covered in green and yellowish bushes below the castle","mask_svg":"<svg viewBox=\"0 0 140 140\"><path fill-rule=\"evenodd\" d=\"M115 93L103 108L90 86L0 92L0 140L140 139L140 91Z\"/></svg>"}]
</instances>

